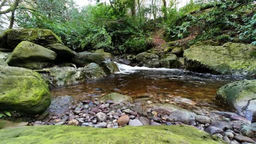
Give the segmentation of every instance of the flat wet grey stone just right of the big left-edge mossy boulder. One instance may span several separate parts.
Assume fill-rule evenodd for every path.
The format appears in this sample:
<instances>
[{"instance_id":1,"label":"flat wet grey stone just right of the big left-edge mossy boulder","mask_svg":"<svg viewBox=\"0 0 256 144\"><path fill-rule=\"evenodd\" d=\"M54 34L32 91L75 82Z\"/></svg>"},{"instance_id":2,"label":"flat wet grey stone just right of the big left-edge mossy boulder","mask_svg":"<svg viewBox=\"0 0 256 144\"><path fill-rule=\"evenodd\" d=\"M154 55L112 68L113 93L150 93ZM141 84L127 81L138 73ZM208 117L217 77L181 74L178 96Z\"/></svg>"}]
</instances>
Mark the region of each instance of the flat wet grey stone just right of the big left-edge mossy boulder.
<instances>
[{"instance_id":1,"label":"flat wet grey stone just right of the big left-edge mossy boulder","mask_svg":"<svg viewBox=\"0 0 256 144\"><path fill-rule=\"evenodd\" d=\"M75 99L72 96L59 96L51 100L48 111L52 113L52 115L60 116L65 114L73 104L75 104Z\"/></svg>"}]
</instances>

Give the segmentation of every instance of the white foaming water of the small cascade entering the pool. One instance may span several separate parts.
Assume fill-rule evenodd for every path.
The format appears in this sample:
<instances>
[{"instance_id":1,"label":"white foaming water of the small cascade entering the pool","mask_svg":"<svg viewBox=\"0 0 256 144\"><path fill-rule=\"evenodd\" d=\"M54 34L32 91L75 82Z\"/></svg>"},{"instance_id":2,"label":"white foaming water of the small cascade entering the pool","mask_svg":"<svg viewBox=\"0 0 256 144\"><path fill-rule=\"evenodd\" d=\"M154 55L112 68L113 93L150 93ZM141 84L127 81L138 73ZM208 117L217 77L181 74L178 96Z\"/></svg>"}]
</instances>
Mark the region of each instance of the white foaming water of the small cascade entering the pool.
<instances>
[{"instance_id":1,"label":"white foaming water of the small cascade entering the pool","mask_svg":"<svg viewBox=\"0 0 256 144\"><path fill-rule=\"evenodd\" d=\"M117 72L117 74L129 74L129 73L135 73L138 70L159 70L159 71L182 71L180 69L167 69L167 68L148 68L148 67L131 67L130 65L126 65L126 64L120 64L120 63L116 63L118 68L119 68L119 72Z\"/></svg>"}]
</instances>

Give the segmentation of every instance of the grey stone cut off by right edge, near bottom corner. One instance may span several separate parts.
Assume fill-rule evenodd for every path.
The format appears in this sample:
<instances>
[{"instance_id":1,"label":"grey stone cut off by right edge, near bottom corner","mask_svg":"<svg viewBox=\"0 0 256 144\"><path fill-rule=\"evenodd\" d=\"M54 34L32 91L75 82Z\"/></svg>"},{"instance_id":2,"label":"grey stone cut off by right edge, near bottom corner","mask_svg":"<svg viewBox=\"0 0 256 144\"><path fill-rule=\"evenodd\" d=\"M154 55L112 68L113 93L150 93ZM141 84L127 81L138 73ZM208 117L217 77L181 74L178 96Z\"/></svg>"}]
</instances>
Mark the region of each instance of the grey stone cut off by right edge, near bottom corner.
<instances>
[{"instance_id":1,"label":"grey stone cut off by right edge, near bottom corner","mask_svg":"<svg viewBox=\"0 0 256 144\"><path fill-rule=\"evenodd\" d=\"M256 123L243 125L241 128L241 132L243 135L256 140Z\"/></svg>"}]
</instances>

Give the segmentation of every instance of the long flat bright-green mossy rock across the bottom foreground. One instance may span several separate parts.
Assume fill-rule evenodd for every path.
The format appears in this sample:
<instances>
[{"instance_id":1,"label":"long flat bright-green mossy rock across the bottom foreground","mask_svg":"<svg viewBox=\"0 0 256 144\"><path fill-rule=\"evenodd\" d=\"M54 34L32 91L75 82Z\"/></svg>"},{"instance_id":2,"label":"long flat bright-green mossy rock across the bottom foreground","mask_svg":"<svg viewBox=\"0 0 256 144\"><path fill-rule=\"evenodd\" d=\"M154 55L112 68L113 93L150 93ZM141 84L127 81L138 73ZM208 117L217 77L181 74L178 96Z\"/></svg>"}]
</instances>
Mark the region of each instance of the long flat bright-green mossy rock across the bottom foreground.
<instances>
[{"instance_id":1,"label":"long flat bright-green mossy rock across the bottom foreground","mask_svg":"<svg viewBox=\"0 0 256 144\"><path fill-rule=\"evenodd\" d=\"M70 125L42 125L0 130L2 143L224 143L185 125L101 129Z\"/></svg>"}]
</instances>

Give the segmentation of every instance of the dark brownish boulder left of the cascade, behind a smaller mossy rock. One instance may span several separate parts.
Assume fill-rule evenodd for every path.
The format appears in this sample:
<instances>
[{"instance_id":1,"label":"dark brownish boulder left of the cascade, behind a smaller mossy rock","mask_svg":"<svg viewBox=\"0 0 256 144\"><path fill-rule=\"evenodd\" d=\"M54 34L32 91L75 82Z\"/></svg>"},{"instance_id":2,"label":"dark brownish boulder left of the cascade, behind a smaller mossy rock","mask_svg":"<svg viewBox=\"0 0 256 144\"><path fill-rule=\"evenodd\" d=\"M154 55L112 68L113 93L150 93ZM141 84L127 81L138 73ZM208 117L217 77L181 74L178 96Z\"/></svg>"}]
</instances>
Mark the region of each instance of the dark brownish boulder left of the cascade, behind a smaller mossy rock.
<instances>
[{"instance_id":1,"label":"dark brownish boulder left of the cascade, behind a smaller mossy rock","mask_svg":"<svg viewBox=\"0 0 256 144\"><path fill-rule=\"evenodd\" d=\"M78 67L85 67L90 63L100 64L105 61L105 58L100 53L91 53L91 52L79 52L74 58L73 62L78 65Z\"/></svg>"}]
</instances>

